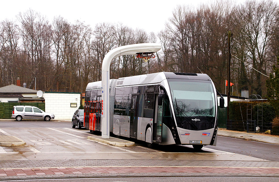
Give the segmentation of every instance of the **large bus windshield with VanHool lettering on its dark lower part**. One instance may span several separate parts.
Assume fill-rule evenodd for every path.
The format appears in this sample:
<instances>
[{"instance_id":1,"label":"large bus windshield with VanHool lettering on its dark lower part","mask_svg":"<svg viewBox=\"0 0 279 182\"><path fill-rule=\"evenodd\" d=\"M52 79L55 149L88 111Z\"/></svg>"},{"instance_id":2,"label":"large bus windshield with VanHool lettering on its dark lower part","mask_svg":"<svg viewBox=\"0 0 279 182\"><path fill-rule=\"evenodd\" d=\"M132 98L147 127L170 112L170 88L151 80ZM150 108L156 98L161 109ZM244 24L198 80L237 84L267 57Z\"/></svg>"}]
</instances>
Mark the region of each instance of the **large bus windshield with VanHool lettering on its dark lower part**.
<instances>
[{"instance_id":1,"label":"large bus windshield with VanHool lettering on its dark lower part","mask_svg":"<svg viewBox=\"0 0 279 182\"><path fill-rule=\"evenodd\" d=\"M178 127L214 128L216 104L211 81L168 79L168 82Z\"/></svg>"}]
</instances>

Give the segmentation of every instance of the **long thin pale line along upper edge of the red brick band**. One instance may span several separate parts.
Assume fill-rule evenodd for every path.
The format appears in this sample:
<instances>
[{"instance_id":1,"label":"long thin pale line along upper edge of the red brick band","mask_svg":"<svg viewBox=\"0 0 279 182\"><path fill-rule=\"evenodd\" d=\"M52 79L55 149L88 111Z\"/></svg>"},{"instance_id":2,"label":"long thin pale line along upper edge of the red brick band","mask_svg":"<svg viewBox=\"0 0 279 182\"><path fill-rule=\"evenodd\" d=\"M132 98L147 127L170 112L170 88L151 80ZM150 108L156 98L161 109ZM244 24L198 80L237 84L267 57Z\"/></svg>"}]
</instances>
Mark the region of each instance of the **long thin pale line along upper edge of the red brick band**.
<instances>
[{"instance_id":1,"label":"long thin pale line along upper edge of the red brick band","mask_svg":"<svg viewBox=\"0 0 279 182\"><path fill-rule=\"evenodd\" d=\"M279 167L234 167L234 166L55 166L55 167L36 167L40 169L52 169L52 168L249 168L249 169L279 169ZM29 168L0 168L5 169L34 169L35 167Z\"/></svg>"}]
</instances>

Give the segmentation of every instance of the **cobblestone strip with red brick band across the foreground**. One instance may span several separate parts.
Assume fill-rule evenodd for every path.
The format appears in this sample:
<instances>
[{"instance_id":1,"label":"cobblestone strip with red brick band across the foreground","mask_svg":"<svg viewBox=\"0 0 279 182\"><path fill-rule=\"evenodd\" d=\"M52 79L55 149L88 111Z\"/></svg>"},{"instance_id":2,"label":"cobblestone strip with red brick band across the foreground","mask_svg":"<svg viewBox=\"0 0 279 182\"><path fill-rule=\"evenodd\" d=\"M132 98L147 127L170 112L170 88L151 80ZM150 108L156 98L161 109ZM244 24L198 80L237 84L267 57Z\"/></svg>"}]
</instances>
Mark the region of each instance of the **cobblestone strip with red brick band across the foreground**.
<instances>
[{"instance_id":1,"label":"cobblestone strip with red brick band across the foreground","mask_svg":"<svg viewBox=\"0 0 279 182\"><path fill-rule=\"evenodd\" d=\"M276 161L17 160L0 161L0 180L97 176L278 176Z\"/></svg>"}]
</instances>

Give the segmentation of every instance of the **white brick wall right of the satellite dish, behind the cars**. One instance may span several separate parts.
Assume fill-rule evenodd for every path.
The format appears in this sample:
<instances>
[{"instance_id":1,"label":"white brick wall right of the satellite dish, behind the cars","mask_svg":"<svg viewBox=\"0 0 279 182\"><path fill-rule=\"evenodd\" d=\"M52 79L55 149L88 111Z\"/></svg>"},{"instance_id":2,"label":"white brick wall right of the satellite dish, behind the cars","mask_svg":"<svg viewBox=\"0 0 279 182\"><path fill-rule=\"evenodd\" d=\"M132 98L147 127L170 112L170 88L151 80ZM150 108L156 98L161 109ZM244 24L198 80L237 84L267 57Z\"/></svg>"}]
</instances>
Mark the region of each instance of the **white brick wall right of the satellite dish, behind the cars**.
<instances>
[{"instance_id":1,"label":"white brick wall right of the satellite dish, behind the cars","mask_svg":"<svg viewBox=\"0 0 279 182\"><path fill-rule=\"evenodd\" d=\"M72 119L80 105L80 94L43 93L43 98L45 112L54 114L54 119ZM76 103L76 107L70 107L70 103Z\"/></svg>"}]
</instances>

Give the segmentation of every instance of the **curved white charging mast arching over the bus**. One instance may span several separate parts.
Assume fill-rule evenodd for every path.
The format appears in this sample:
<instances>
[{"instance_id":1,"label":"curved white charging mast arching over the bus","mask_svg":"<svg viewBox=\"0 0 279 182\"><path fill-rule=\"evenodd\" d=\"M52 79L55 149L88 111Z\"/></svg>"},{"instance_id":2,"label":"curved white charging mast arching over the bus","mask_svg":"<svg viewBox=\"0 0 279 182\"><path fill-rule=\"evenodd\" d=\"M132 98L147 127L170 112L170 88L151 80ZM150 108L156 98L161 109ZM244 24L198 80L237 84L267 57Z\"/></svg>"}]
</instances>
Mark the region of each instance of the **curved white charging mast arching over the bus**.
<instances>
[{"instance_id":1,"label":"curved white charging mast arching over the bus","mask_svg":"<svg viewBox=\"0 0 279 182\"><path fill-rule=\"evenodd\" d=\"M161 49L160 44L143 43L117 47L108 52L102 63L102 138L110 138L110 63L121 55L136 53L155 53Z\"/></svg>"}]
</instances>

